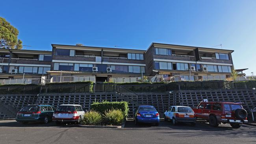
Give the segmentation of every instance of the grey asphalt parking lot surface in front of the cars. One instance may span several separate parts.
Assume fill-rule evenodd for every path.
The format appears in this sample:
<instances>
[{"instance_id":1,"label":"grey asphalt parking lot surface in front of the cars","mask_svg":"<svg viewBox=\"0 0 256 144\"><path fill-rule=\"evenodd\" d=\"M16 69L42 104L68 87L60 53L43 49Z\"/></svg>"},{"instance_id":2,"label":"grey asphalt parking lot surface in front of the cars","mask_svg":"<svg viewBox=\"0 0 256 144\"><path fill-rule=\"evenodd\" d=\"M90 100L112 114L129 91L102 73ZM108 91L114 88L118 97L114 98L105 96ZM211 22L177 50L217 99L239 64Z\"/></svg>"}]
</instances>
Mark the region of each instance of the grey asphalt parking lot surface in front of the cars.
<instances>
[{"instance_id":1,"label":"grey asphalt parking lot surface in front of the cars","mask_svg":"<svg viewBox=\"0 0 256 144\"><path fill-rule=\"evenodd\" d=\"M48 124L20 124L15 120L0 121L1 144L255 144L256 127L243 125L232 129L229 124L210 127L207 123L197 122L196 126L161 121L159 126L143 124L135 126L127 121L125 128L83 128L77 125L56 126Z\"/></svg>"}]
</instances>

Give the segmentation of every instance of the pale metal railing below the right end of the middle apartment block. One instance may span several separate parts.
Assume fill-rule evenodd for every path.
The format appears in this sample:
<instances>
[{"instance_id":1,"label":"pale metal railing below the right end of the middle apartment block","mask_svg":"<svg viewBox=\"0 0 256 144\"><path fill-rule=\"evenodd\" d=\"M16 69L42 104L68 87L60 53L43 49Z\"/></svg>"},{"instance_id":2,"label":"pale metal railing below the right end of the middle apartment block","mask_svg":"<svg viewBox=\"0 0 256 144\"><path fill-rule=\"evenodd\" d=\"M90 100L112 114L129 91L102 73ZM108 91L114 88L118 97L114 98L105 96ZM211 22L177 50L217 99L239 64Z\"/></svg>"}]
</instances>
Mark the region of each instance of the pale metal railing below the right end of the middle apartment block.
<instances>
[{"instance_id":1,"label":"pale metal railing below the right end of the middle apartment block","mask_svg":"<svg viewBox=\"0 0 256 144\"><path fill-rule=\"evenodd\" d=\"M134 82L161 82L162 76L145 76L145 77L121 77L121 78L109 78L109 81L114 83L134 83Z\"/></svg>"}]
</instances>

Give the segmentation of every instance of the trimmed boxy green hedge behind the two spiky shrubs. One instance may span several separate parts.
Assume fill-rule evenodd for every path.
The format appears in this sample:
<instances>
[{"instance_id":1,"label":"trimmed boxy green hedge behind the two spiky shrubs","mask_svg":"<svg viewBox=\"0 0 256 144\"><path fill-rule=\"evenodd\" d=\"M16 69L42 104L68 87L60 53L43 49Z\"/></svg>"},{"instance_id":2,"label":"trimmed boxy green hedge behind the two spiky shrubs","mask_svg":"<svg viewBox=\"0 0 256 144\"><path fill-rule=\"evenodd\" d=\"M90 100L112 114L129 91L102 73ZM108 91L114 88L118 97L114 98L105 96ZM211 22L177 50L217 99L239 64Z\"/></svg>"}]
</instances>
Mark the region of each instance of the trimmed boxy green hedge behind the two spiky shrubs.
<instances>
[{"instance_id":1,"label":"trimmed boxy green hedge behind the two spiky shrubs","mask_svg":"<svg viewBox=\"0 0 256 144\"><path fill-rule=\"evenodd\" d=\"M104 114L106 111L112 109L121 109L124 115L127 117L129 112L128 102L94 102L91 104L91 109L93 111L98 111L99 113Z\"/></svg>"}]
</instances>

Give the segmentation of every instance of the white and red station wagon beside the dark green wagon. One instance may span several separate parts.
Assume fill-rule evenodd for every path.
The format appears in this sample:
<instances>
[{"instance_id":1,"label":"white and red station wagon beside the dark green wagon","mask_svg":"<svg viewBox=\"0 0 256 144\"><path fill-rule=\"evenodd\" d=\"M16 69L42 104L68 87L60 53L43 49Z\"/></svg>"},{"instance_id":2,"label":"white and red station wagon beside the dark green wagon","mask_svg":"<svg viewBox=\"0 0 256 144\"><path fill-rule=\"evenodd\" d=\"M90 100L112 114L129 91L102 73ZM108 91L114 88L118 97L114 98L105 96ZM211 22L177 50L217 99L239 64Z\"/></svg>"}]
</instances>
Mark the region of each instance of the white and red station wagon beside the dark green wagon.
<instances>
[{"instance_id":1,"label":"white and red station wagon beside the dark green wagon","mask_svg":"<svg viewBox=\"0 0 256 144\"><path fill-rule=\"evenodd\" d=\"M56 124L61 124L62 122L76 122L80 124L85 112L81 105L64 104L59 105L54 111L52 121Z\"/></svg>"}]
</instances>

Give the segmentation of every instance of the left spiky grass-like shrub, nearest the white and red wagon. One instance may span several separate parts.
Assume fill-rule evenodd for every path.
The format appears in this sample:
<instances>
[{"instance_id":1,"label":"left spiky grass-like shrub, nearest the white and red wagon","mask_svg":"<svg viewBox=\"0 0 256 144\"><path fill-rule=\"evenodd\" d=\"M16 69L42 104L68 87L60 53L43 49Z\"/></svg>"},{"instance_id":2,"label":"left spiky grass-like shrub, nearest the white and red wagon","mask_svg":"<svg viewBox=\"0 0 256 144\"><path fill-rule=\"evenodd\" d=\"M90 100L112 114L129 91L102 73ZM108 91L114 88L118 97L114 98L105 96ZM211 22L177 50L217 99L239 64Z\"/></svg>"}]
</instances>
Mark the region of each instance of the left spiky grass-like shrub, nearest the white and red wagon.
<instances>
[{"instance_id":1,"label":"left spiky grass-like shrub, nearest the white and red wagon","mask_svg":"<svg viewBox=\"0 0 256 144\"><path fill-rule=\"evenodd\" d=\"M88 111L84 114L82 124L84 125L98 125L102 122L102 116L96 111Z\"/></svg>"}]
</instances>

